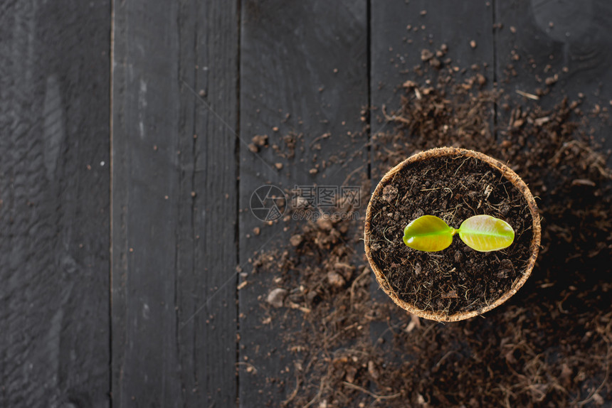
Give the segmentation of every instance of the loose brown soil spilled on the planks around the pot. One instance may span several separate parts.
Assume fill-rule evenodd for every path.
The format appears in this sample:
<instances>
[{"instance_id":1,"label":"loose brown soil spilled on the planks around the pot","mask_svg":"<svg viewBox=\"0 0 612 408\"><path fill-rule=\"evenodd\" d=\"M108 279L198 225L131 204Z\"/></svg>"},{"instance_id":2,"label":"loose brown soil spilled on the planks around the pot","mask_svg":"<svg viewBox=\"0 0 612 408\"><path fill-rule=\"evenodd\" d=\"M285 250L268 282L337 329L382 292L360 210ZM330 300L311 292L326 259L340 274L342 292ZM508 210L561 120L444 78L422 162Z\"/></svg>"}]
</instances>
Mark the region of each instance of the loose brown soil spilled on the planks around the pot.
<instances>
[{"instance_id":1,"label":"loose brown soil spilled on the planks around the pot","mask_svg":"<svg viewBox=\"0 0 612 408\"><path fill-rule=\"evenodd\" d=\"M517 98L512 82L512 92L482 90L475 68L464 74L449 63L428 72L432 68L423 64L411 71L411 81L397 84L401 104L371 109L376 128L389 124L371 136L371 179L438 146L510 163L542 215L532 276L482 317L441 324L406 313L381 293L363 253L363 212L359 220L295 223L287 216L283 224L265 225L284 225L291 236L266 246L253 257L252 270L241 272L261 294L248 318L260 322L270 341L283 340L273 353L246 348L248 363L239 365L248 381L261 385L260 405L611 404L612 176L610 152L597 144L609 133L608 103L549 93L559 84L536 92L542 101ZM362 112L364 122L367 115ZM317 143L325 147L329 139ZM272 135L261 149L304 148L302 139L292 140ZM351 182L358 176L350 174ZM362 203L369 199L368 183ZM338 210L362 211L363 205ZM265 366L285 368L258 371Z\"/></svg>"}]
</instances>

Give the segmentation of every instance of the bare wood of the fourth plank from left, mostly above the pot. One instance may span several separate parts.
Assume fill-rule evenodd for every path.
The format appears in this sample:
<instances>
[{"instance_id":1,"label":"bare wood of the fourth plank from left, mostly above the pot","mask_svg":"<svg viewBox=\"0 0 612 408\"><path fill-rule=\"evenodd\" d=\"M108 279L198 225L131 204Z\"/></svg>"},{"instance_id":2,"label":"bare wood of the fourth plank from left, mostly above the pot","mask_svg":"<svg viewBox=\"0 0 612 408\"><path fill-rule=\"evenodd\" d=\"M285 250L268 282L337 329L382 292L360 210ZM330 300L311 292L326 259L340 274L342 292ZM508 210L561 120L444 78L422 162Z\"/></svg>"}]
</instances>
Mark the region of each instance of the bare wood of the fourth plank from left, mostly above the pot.
<instances>
[{"instance_id":1,"label":"bare wood of the fourth plank from left, mostly above the pot","mask_svg":"<svg viewBox=\"0 0 612 408\"><path fill-rule=\"evenodd\" d=\"M493 8L489 1L464 1L452 4L442 0L372 3L370 82L371 104L376 107L371 118L372 135L394 129L394 124L384 121L380 109L383 106L386 106L389 112L399 109L400 96L404 94L401 84L404 81L412 80L423 85L427 78L435 80L434 68L429 68L430 73L422 77L414 69L423 66L421 59L423 49L435 53L445 44L448 52L442 60L450 58L451 63L443 65L442 69L457 67L463 70L478 64L479 72L487 78L484 89L492 89L494 80L492 13ZM470 44L471 41L474 43ZM409 144L410 140L407 139L406 143ZM372 151L375 152L379 147L374 141ZM389 166L394 164L389 163ZM371 165L372 189L376 188L376 184L386 171L385 169L379 171L380 166L381 163L376 161L374 155ZM391 301L375 280L371 284L371 294L380 302ZM386 323L372 324L373 339L379 338L383 333L391 335Z\"/></svg>"}]
</instances>

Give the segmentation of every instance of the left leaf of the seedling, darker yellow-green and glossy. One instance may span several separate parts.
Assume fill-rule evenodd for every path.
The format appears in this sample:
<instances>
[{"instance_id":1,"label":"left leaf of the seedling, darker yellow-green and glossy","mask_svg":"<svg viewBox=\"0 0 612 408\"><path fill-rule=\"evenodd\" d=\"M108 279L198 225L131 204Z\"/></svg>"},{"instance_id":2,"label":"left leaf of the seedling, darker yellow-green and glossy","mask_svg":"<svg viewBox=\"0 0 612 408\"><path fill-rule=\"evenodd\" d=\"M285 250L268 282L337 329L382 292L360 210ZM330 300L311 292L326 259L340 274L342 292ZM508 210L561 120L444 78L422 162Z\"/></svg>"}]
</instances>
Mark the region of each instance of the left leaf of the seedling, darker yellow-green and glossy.
<instances>
[{"instance_id":1,"label":"left leaf of the seedling, darker yellow-green and glossy","mask_svg":"<svg viewBox=\"0 0 612 408\"><path fill-rule=\"evenodd\" d=\"M455 228L433 215L423 215L403 229L403 243L419 251L436 252L453 243Z\"/></svg>"}]
</instances>

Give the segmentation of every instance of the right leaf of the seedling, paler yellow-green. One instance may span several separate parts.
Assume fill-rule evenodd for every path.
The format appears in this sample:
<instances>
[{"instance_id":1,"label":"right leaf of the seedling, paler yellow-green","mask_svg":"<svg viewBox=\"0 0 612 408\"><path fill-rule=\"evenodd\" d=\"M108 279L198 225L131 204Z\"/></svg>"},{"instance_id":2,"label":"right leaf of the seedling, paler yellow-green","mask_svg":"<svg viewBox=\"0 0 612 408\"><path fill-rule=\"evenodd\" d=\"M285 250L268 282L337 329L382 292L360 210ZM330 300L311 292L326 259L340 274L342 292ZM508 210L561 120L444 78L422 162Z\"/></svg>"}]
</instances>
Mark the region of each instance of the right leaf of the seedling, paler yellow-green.
<instances>
[{"instance_id":1,"label":"right leaf of the seedling, paler yellow-green","mask_svg":"<svg viewBox=\"0 0 612 408\"><path fill-rule=\"evenodd\" d=\"M490 215L468 218L457 232L465 245L478 252L504 249L510 247L515 240L515 230L512 230L510 224Z\"/></svg>"}]
</instances>

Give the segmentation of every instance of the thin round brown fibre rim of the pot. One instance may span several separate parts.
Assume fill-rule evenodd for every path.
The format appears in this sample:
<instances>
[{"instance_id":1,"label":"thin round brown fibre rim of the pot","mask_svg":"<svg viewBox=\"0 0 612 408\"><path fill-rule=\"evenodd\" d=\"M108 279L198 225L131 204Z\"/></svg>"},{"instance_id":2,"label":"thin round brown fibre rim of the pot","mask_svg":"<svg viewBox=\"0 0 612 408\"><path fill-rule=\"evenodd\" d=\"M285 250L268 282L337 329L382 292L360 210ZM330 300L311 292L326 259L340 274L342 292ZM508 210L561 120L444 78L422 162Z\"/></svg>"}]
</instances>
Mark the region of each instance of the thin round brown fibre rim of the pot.
<instances>
[{"instance_id":1,"label":"thin round brown fibre rim of the pot","mask_svg":"<svg viewBox=\"0 0 612 408\"><path fill-rule=\"evenodd\" d=\"M390 178L395 176L396 173L398 173L404 166L408 164L416 163L417 161L428 160L433 157L456 156L456 155L474 157L475 159L480 159L484 161L492 168L495 168L498 171L500 171L500 173L502 173L502 176L507 178L507 180L509 180L512 183L512 186L515 186L515 188L517 188L517 190L519 190L522 193L524 198L527 200L527 205L529 206L529 213L531 213L532 220L533 220L533 225L532 225L533 237L532 237L532 242L529 245L529 252L531 253L531 255L529 256L529 262L527 263L527 267L522 273L522 276L512 284L512 287L508 291L506 291L504 294L502 294L502 296L497 298L492 304L488 304L487 306L479 308L474 311L465 311L465 312L453 313L450 315L447 315L441 312L427 311L427 310L417 308L413 304L408 304L408 302L399 299L395 291L391 289L391 285L386 280L386 277L384 276L382 271L379 269L379 267L376 266L376 264L374 264L374 261L371 257L371 249L369 246L370 224L371 224L371 217L372 217L371 199L370 199L370 202L368 203L368 207L366 210L366 220L365 220L365 225L364 225L364 245L365 245L366 257L368 259L371 269L374 271L374 274L376 275L376 281L378 281L383 291L391 298L391 300L395 302L396 305L398 305L399 307L403 308L404 310L410 313L416 314L416 316L427 318L430 320L435 320L435 321L461 321L467 318L479 316L482 313L485 313L487 311L492 310L493 308L496 308L497 306L500 306L500 304L503 304L505 301L510 299L524 285L525 281L527 281L529 276L531 276L532 269L534 268L535 261L537 259L537 255L539 252L540 240L542 238L542 227L540 225L540 217L539 217L539 213L537 210L537 205L535 203L535 200L534 200L534 197L531 191L529 190L529 187L527 187L527 184L524 183L524 181L522 181L522 178L520 178L517 175L517 173L512 171L510 167L506 166L504 163L496 159L493 159L490 156L487 156L486 154L480 153L479 151L460 149L457 147L437 147L435 149L421 151L417 154L413 154L413 156L408 157L408 159L402 161L397 166L387 171L387 173L383 176L383 178L381 178L381 181L379 181L371 197L375 197L376 195L381 195L383 184L386 183L386 181L389 181Z\"/></svg>"}]
</instances>

